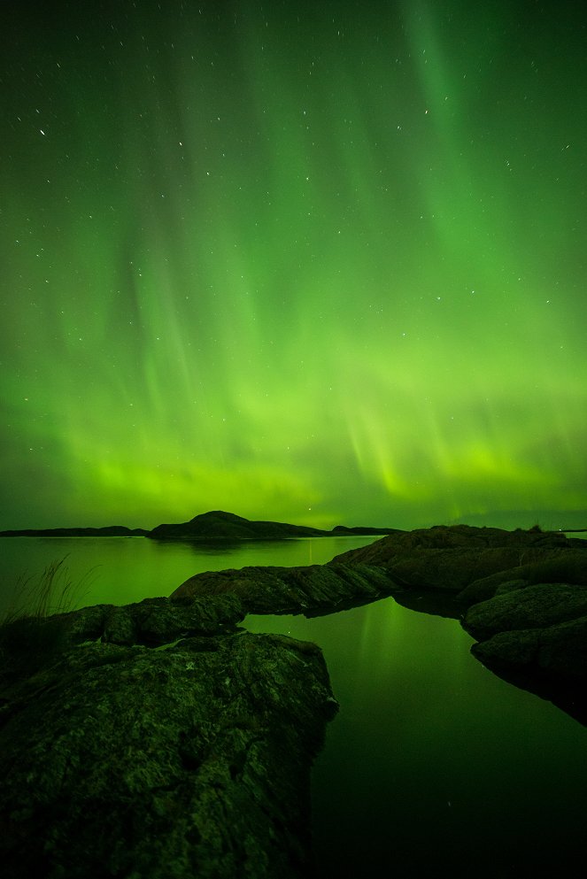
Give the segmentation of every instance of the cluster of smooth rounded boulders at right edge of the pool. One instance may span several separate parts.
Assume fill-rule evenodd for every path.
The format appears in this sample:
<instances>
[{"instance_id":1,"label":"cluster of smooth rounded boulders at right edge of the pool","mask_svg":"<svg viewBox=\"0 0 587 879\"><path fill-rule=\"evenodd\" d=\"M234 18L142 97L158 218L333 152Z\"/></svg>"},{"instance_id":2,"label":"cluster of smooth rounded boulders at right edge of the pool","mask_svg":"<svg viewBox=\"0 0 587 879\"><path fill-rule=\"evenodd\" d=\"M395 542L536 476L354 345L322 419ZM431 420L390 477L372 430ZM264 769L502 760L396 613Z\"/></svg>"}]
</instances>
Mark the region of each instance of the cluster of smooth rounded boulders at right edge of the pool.
<instances>
[{"instance_id":1,"label":"cluster of smooth rounded boulders at right edge of the pool","mask_svg":"<svg viewBox=\"0 0 587 879\"><path fill-rule=\"evenodd\" d=\"M587 543L552 540L550 549L529 547L521 561L460 592L468 605L463 627L481 642L471 651L496 674L585 722L587 700L577 682L587 680Z\"/></svg>"}]
</instances>

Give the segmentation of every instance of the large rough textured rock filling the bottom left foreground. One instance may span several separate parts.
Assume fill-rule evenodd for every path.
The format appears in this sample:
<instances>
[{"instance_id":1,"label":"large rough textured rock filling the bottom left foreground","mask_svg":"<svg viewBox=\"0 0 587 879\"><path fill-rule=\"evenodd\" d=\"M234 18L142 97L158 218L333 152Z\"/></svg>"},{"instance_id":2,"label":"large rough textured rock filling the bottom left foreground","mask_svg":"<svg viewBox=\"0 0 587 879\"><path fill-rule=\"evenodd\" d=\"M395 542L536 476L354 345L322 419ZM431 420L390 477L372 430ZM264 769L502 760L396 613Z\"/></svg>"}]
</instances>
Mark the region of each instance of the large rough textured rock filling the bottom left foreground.
<instances>
[{"instance_id":1,"label":"large rough textured rock filling the bottom left foreground","mask_svg":"<svg viewBox=\"0 0 587 879\"><path fill-rule=\"evenodd\" d=\"M312 875L309 771L336 712L314 644L83 644L2 696L7 879Z\"/></svg>"}]
</instances>

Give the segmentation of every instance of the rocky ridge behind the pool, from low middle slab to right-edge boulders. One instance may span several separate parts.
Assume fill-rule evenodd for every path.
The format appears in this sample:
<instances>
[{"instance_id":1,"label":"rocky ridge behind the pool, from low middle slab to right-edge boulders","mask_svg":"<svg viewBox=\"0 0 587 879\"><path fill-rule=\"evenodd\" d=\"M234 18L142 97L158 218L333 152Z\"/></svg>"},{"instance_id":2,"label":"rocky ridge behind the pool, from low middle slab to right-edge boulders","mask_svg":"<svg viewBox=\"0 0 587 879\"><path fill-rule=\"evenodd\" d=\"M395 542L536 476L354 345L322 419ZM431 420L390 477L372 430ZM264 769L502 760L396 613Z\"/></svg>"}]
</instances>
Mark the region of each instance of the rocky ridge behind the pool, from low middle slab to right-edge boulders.
<instances>
[{"instance_id":1,"label":"rocky ridge behind the pool, from low middle slab to right-edge boulders","mask_svg":"<svg viewBox=\"0 0 587 879\"><path fill-rule=\"evenodd\" d=\"M498 675L557 704L559 691L570 692L565 710L587 716L587 541L560 532L400 531L323 566L197 574L172 598L219 594L238 596L248 613L311 616L384 595L428 606L460 618L478 642L473 654Z\"/></svg>"}]
</instances>

